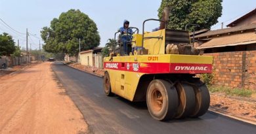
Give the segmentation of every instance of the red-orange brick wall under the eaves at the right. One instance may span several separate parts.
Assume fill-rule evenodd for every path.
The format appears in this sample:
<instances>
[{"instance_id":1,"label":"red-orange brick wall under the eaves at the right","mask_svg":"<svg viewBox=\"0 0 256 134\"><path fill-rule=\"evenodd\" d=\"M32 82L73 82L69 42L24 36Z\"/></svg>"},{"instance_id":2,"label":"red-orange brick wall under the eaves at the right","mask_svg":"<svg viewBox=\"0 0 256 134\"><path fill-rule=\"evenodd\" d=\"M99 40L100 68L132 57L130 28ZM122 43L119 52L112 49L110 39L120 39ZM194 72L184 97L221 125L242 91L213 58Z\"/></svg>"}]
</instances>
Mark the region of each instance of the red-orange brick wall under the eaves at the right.
<instances>
[{"instance_id":1,"label":"red-orange brick wall under the eaves at the right","mask_svg":"<svg viewBox=\"0 0 256 134\"><path fill-rule=\"evenodd\" d=\"M213 56L213 85L256 90L256 50L204 54Z\"/></svg>"}]
</instances>

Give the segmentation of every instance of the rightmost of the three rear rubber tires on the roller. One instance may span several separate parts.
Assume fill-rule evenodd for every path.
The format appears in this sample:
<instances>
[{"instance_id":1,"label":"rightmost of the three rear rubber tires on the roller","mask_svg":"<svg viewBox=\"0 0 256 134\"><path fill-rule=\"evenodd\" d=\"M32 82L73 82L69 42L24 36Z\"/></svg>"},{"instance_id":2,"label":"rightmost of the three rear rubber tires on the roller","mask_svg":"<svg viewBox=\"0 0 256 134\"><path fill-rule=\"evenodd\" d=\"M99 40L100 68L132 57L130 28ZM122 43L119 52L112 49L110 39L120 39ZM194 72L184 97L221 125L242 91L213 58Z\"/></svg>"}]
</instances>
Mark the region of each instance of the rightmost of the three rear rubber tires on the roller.
<instances>
[{"instance_id":1,"label":"rightmost of the three rear rubber tires on the roller","mask_svg":"<svg viewBox=\"0 0 256 134\"><path fill-rule=\"evenodd\" d=\"M196 82L195 84L200 85L202 83L203 82L198 80L198 82ZM191 117L196 118L202 116L207 112L210 105L210 93L205 84L200 87L194 86L193 88L196 96L196 109L194 110L194 112L192 112Z\"/></svg>"}]
</instances>

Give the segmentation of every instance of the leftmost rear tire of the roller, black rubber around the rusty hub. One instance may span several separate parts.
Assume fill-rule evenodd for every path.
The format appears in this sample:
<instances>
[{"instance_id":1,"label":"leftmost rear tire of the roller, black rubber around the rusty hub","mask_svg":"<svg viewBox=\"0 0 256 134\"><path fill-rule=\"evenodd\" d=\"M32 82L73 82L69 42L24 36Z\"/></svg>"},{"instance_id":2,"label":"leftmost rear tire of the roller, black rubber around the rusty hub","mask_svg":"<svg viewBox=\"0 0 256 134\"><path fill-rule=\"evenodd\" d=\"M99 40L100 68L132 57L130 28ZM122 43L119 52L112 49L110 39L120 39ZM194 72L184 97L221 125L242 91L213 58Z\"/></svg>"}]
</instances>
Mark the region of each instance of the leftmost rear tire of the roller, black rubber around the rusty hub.
<instances>
[{"instance_id":1,"label":"leftmost rear tire of the roller, black rubber around the rusty hub","mask_svg":"<svg viewBox=\"0 0 256 134\"><path fill-rule=\"evenodd\" d=\"M158 90L163 97L161 109L158 111L154 110L153 106L152 93L154 93L154 90ZM171 84L165 80L152 80L146 92L146 104L150 115L154 119L161 121L171 120L175 116L179 105L177 90L174 86L171 87Z\"/></svg>"}]
</instances>

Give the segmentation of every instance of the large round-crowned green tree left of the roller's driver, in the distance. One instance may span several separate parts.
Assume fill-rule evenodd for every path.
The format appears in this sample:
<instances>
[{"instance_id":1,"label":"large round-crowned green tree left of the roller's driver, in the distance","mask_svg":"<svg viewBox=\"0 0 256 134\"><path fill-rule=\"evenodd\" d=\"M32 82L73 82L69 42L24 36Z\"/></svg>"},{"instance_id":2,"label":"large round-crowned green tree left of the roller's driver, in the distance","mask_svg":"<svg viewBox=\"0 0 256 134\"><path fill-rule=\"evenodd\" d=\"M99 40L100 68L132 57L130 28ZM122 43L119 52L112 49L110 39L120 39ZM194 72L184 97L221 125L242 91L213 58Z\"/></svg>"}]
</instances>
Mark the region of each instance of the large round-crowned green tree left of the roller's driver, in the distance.
<instances>
[{"instance_id":1,"label":"large round-crowned green tree left of the roller's driver, in the distance","mask_svg":"<svg viewBox=\"0 0 256 134\"><path fill-rule=\"evenodd\" d=\"M79 39L81 50L88 50L100 44L95 22L80 10L68 10L51 21L50 27L43 27L41 37L45 41L43 49L47 52L63 52L77 56Z\"/></svg>"}]
</instances>

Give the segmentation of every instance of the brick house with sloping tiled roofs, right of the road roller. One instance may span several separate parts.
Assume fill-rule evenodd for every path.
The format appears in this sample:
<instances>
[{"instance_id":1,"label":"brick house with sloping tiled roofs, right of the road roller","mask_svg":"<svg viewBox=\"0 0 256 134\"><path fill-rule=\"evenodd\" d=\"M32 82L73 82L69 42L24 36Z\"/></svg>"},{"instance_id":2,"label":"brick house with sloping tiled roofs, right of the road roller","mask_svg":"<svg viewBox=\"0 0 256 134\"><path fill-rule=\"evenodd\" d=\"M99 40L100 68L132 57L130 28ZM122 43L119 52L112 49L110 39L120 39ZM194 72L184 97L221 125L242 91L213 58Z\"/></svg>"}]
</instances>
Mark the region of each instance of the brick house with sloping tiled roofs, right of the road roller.
<instances>
[{"instance_id":1,"label":"brick house with sloping tiled roofs, right of the road roller","mask_svg":"<svg viewBox=\"0 0 256 134\"><path fill-rule=\"evenodd\" d=\"M214 57L213 84L256 89L256 8L228 28L195 36L198 48Z\"/></svg>"}]
</instances>

